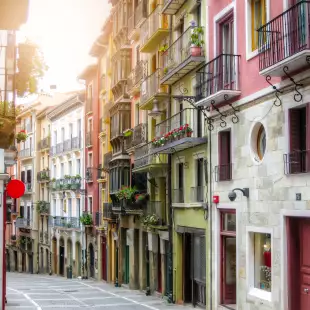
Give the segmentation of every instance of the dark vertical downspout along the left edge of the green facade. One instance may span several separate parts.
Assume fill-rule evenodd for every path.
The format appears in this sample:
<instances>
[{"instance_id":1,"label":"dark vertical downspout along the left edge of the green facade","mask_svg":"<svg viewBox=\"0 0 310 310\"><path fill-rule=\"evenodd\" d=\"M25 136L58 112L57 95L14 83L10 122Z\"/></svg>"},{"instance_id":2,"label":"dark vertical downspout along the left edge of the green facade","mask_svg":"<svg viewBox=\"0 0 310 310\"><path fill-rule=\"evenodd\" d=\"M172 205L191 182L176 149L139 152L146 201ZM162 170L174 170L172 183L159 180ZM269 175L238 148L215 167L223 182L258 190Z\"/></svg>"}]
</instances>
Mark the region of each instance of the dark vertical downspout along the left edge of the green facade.
<instances>
[{"instance_id":1,"label":"dark vertical downspout along the left edge of the green facade","mask_svg":"<svg viewBox=\"0 0 310 310\"><path fill-rule=\"evenodd\" d=\"M172 16L170 16L170 35L169 35L169 46L172 44ZM171 116L171 94L172 89L169 86L170 99L168 101L167 107L167 118ZM172 172L172 155L168 154L168 176L167 176L167 192L168 192L168 233L169 233L169 253L168 253L168 281L169 281L169 292L168 292L168 302L174 303L173 295L173 210L172 210L172 189L171 189L171 172Z\"/></svg>"}]
</instances>

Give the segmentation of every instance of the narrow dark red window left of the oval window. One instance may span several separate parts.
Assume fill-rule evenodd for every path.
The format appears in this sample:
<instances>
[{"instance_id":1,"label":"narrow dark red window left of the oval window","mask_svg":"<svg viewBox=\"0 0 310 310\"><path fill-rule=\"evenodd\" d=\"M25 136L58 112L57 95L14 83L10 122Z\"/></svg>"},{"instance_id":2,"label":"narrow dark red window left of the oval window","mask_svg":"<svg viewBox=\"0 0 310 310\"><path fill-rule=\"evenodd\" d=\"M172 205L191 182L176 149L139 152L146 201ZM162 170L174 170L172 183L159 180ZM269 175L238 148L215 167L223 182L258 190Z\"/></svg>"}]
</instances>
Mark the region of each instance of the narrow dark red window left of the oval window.
<instances>
[{"instance_id":1,"label":"narrow dark red window left of the oval window","mask_svg":"<svg viewBox=\"0 0 310 310\"><path fill-rule=\"evenodd\" d=\"M219 132L219 165L216 170L218 181L231 180L231 133L230 130Z\"/></svg>"}]
</instances>

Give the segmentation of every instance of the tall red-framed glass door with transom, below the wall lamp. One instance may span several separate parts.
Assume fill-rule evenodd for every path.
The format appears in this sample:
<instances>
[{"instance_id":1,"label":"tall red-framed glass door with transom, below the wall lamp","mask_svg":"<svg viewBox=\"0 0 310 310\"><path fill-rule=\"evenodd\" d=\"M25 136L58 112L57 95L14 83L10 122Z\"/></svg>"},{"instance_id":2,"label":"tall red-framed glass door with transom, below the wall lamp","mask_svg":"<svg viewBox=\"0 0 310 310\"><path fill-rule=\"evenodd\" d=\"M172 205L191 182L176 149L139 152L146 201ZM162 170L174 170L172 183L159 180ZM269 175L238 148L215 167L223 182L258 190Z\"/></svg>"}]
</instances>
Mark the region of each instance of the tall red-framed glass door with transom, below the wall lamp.
<instances>
[{"instance_id":1,"label":"tall red-framed glass door with transom, below the wall lamp","mask_svg":"<svg viewBox=\"0 0 310 310\"><path fill-rule=\"evenodd\" d=\"M236 213L221 212L221 304L236 304Z\"/></svg>"}]
</instances>

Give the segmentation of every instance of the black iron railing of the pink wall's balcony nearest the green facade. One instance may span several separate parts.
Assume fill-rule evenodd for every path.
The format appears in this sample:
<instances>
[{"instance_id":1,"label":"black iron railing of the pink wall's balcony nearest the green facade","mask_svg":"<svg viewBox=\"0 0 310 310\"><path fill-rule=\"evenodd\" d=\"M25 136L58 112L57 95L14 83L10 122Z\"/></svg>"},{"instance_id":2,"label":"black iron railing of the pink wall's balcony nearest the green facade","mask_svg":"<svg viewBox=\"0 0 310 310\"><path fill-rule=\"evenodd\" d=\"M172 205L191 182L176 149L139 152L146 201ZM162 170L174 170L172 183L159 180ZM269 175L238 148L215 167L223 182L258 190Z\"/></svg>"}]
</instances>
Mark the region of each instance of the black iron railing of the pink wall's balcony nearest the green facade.
<instances>
[{"instance_id":1,"label":"black iron railing of the pink wall's balcony nearest the green facade","mask_svg":"<svg viewBox=\"0 0 310 310\"><path fill-rule=\"evenodd\" d=\"M196 96L206 98L221 90L239 91L240 55L221 54L196 74Z\"/></svg>"}]
</instances>

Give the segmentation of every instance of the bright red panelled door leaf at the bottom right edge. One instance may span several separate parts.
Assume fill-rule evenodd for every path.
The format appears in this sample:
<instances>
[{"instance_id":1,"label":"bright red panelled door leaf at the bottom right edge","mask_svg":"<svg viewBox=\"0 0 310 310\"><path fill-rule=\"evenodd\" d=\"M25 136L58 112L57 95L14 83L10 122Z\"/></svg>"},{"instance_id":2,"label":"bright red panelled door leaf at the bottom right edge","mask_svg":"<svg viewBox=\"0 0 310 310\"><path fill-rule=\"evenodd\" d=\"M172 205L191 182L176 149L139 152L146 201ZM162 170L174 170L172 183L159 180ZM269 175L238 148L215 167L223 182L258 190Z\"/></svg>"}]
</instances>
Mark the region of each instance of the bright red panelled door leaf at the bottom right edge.
<instances>
[{"instance_id":1,"label":"bright red panelled door leaf at the bottom right edge","mask_svg":"<svg viewBox=\"0 0 310 310\"><path fill-rule=\"evenodd\" d=\"M300 310L310 309L310 220L300 221Z\"/></svg>"}]
</instances>

